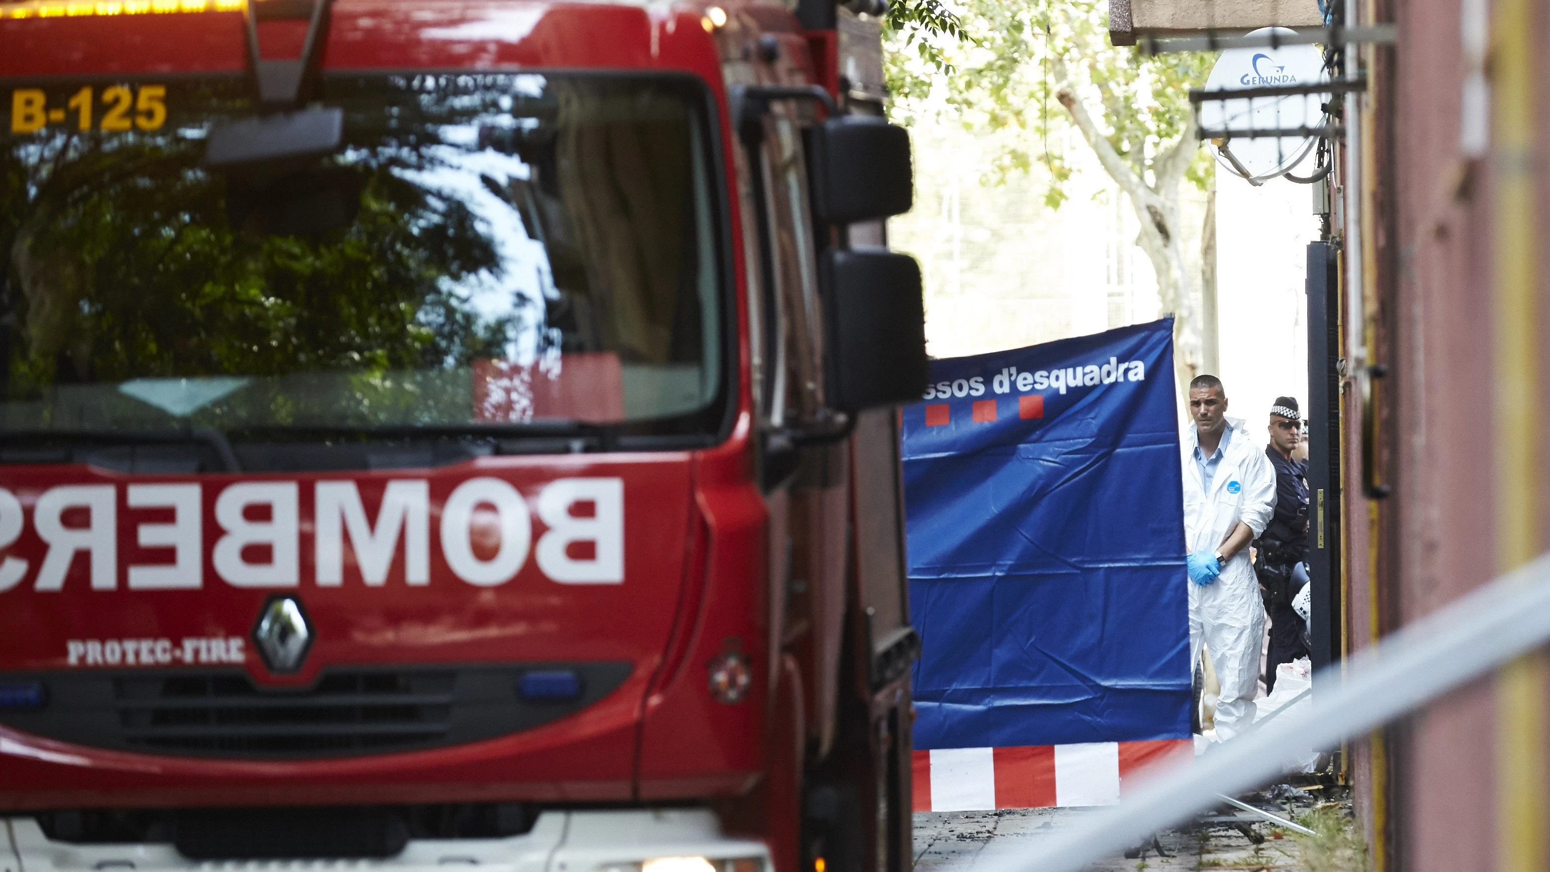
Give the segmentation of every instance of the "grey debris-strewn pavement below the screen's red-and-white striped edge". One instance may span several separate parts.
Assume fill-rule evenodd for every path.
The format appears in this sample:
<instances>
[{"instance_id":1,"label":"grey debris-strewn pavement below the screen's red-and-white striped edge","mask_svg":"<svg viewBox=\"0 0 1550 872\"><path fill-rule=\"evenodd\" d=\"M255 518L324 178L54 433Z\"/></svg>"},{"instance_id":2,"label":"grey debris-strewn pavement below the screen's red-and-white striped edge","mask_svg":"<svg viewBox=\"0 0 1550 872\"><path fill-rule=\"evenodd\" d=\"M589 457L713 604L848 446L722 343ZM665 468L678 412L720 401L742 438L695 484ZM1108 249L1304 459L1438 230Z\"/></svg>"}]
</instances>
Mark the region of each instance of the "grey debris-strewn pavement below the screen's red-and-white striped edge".
<instances>
[{"instance_id":1,"label":"grey debris-strewn pavement below the screen's red-and-white striped edge","mask_svg":"<svg viewBox=\"0 0 1550 872\"><path fill-rule=\"evenodd\" d=\"M1330 794L1325 798L1325 794ZM1245 794L1242 799L1268 811L1304 815L1316 804L1345 819L1350 799L1341 788L1297 793ZM998 811L921 811L914 815L914 872L969 872L975 860L994 849L1015 850L1034 844L1060 827L1102 808L1014 808ZM1158 850L1161 847L1161 852ZM1331 866L1327 853L1308 850L1307 839L1277 830L1248 813L1229 808L1203 816L1187 827L1158 833L1155 846L1136 856L1116 855L1090 866L1094 872L1190 870L1201 869L1286 869L1324 872ZM1352 866L1355 869L1355 866Z\"/></svg>"}]
</instances>

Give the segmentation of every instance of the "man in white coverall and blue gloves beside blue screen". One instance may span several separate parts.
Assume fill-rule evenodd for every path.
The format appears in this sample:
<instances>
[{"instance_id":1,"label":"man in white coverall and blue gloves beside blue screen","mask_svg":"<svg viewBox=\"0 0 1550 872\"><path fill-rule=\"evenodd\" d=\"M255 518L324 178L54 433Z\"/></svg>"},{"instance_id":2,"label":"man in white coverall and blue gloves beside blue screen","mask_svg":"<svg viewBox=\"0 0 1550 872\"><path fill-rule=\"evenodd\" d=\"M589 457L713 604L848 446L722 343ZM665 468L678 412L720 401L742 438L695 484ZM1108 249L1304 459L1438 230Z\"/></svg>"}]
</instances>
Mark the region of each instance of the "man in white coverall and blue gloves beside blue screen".
<instances>
[{"instance_id":1,"label":"man in white coverall and blue gloves beside blue screen","mask_svg":"<svg viewBox=\"0 0 1550 872\"><path fill-rule=\"evenodd\" d=\"M1249 562L1276 510L1276 470L1243 420L1228 417L1228 396L1215 375L1189 383L1184 434L1184 545L1189 549L1189 655L1211 650L1221 697L1217 739L1226 742L1254 723L1265 608Z\"/></svg>"}]
</instances>

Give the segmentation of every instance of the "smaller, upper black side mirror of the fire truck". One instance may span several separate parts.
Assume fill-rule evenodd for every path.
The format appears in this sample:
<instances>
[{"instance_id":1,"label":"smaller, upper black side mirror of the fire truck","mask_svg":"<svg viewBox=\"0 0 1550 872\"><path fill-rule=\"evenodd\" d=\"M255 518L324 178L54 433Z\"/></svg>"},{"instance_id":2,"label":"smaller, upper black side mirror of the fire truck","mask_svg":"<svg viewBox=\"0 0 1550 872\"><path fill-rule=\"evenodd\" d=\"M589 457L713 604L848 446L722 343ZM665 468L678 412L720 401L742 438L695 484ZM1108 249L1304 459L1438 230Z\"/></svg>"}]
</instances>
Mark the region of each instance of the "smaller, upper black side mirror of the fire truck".
<instances>
[{"instance_id":1,"label":"smaller, upper black side mirror of the fire truck","mask_svg":"<svg viewBox=\"0 0 1550 872\"><path fill-rule=\"evenodd\" d=\"M809 151L812 202L825 222L885 219L914 203L904 127L870 115L842 115L812 129Z\"/></svg>"}]
</instances>

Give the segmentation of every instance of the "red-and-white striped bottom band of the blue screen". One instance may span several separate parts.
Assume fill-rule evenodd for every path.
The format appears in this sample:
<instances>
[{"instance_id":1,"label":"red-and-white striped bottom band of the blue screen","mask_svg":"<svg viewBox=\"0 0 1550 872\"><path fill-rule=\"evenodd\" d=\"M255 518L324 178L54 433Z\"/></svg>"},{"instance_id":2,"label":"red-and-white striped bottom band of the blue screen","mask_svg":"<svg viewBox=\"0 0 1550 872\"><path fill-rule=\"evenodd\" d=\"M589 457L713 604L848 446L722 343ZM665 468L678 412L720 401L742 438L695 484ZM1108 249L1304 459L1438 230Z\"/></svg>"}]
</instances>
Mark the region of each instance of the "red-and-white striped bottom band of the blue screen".
<instances>
[{"instance_id":1,"label":"red-and-white striped bottom band of the blue screen","mask_svg":"<svg viewBox=\"0 0 1550 872\"><path fill-rule=\"evenodd\" d=\"M1144 780L1142 770L1194 753L1189 739L914 751L914 810L1113 805Z\"/></svg>"}]
</instances>

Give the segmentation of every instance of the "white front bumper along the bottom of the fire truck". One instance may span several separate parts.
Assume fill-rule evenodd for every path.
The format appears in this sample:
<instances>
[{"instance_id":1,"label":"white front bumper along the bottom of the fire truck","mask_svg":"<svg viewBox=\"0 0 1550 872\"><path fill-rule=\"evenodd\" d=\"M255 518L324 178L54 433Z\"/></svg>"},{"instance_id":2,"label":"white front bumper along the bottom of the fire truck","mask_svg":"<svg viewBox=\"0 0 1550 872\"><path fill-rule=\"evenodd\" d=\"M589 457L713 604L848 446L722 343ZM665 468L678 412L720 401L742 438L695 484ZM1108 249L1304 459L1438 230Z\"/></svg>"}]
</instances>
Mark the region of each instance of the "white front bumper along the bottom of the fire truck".
<instances>
[{"instance_id":1,"label":"white front bumper along the bottom of the fire truck","mask_svg":"<svg viewBox=\"0 0 1550 872\"><path fill-rule=\"evenodd\" d=\"M0 818L0 872L770 872L760 841L721 833L701 808L544 811L499 839L414 839L381 860L189 860L170 844L50 839L33 818Z\"/></svg>"}]
</instances>

